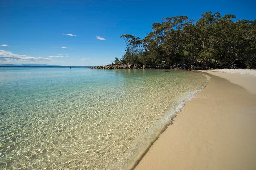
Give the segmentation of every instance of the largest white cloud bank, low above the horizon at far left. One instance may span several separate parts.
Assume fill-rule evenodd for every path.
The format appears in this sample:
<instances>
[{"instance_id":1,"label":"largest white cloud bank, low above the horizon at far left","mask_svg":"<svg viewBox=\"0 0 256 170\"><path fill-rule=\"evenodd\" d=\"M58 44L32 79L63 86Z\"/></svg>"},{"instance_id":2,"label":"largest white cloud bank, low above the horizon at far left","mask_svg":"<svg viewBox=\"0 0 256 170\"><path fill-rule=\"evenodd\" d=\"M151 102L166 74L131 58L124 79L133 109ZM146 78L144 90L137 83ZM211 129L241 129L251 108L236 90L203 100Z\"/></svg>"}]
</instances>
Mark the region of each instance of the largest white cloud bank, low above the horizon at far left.
<instances>
[{"instance_id":1,"label":"largest white cloud bank, low above the horizon at far left","mask_svg":"<svg viewBox=\"0 0 256 170\"><path fill-rule=\"evenodd\" d=\"M0 50L0 62L12 62L12 61L54 61L51 58L44 57L31 57L28 55L14 54L10 51Z\"/></svg>"}]
</instances>

